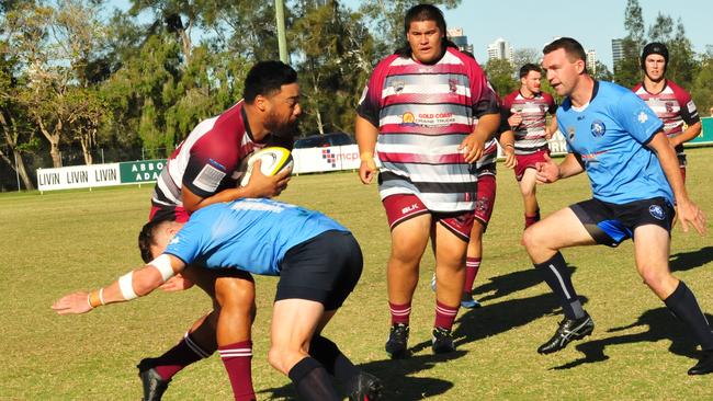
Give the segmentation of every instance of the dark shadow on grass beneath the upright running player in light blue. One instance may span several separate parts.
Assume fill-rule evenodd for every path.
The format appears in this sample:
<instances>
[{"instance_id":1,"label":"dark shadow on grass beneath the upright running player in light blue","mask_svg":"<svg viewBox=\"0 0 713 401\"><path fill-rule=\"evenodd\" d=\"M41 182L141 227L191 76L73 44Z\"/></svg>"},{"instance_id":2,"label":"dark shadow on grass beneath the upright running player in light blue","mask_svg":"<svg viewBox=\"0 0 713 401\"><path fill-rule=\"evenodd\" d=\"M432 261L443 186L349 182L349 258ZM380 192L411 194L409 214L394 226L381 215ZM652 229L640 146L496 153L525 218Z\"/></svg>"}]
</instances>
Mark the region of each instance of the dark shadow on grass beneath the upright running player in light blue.
<instances>
[{"instance_id":1,"label":"dark shadow on grass beneath the upright running player in light blue","mask_svg":"<svg viewBox=\"0 0 713 401\"><path fill-rule=\"evenodd\" d=\"M711 321L713 317L706 313L706 319ZM607 333L616 333L634 328L647 326L648 330L641 333L613 335L607 339L588 341L577 345L577 351L581 352L584 357L556 366L553 369L571 369L584 364L593 364L609 359L604 350L610 345L633 344L641 342L670 341L671 345L668 351L676 355L697 357L697 343L692 333L686 331L683 322L678 321L668 311L667 308L652 309L644 312L632 324L607 330ZM586 340L585 340L586 341Z\"/></svg>"}]
</instances>

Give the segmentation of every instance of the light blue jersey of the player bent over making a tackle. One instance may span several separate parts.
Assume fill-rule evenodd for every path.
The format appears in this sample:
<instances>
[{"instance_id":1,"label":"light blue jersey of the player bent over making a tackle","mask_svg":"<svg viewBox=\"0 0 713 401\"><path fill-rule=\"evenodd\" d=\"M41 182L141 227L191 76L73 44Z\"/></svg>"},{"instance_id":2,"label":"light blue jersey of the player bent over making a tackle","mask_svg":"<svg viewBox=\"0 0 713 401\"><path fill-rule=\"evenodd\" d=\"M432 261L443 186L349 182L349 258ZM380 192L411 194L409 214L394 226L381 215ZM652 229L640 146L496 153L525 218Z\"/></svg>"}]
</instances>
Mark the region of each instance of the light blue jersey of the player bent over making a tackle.
<instances>
[{"instance_id":1,"label":"light blue jersey of the player bent over making a tackle","mask_svg":"<svg viewBox=\"0 0 713 401\"><path fill-rule=\"evenodd\" d=\"M278 276L290 249L329 230L349 231L319 211L246 198L199 209L163 253L207 268Z\"/></svg>"}]
</instances>

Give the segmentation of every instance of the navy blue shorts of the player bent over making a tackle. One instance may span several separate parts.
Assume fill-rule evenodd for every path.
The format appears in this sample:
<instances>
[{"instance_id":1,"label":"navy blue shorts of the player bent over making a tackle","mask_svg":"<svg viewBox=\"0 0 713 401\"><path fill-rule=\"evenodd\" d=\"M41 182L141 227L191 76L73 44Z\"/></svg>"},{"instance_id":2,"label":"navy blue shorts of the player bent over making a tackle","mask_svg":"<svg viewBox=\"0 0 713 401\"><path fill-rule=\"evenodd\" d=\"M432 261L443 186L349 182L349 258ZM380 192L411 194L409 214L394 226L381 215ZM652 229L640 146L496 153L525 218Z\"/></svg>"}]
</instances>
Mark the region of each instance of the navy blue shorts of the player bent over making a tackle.
<instances>
[{"instance_id":1,"label":"navy blue shorts of the player bent over making a tackle","mask_svg":"<svg viewBox=\"0 0 713 401\"><path fill-rule=\"evenodd\" d=\"M356 286L362 267L362 251L351 232L325 231L287 251L275 301L307 299L336 310Z\"/></svg>"}]
</instances>

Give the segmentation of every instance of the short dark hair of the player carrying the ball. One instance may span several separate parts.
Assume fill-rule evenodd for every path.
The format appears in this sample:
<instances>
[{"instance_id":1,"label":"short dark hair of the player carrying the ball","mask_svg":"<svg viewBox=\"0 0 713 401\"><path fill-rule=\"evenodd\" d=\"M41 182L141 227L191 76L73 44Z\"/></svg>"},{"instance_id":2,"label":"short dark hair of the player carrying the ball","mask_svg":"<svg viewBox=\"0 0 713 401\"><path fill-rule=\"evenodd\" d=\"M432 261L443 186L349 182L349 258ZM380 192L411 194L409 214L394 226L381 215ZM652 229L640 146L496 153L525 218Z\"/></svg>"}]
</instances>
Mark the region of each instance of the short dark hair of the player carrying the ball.
<instances>
[{"instance_id":1,"label":"short dark hair of the player carrying the ball","mask_svg":"<svg viewBox=\"0 0 713 401\"><path fill-rule=\"evenodd\" d=\"M252 104L254 99L261 94L270 96L279 92L282 85L297 82L297 72L282 61L260 61L250 68L245 79L242 99Z\"/></svg>"}]
</instances>

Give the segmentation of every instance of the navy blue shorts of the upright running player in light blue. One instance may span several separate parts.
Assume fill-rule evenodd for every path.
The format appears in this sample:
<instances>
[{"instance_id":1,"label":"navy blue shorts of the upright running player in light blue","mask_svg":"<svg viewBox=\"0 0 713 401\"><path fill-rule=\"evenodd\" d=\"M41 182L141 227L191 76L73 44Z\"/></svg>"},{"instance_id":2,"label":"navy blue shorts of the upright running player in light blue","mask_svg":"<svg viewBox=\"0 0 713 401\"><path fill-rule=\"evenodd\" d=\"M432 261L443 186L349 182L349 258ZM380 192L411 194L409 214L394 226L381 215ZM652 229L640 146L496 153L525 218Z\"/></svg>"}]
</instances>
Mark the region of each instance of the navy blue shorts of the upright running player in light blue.
<instances>
[{"instance_id":1,"label":"navy blue shorts of the upright running player in light blue","mask_svg":"<svg viewBox=\"0 0 713 401\"><path fill-rule=\"evenodd\" d=\"M676 216L674 206L663 197L621 205L589 199L569 208L591 238L607 247L618 247L624 240L634 238L634 229L640 226L655 225L670 233Z\"/></svg>"}]
</instances>

